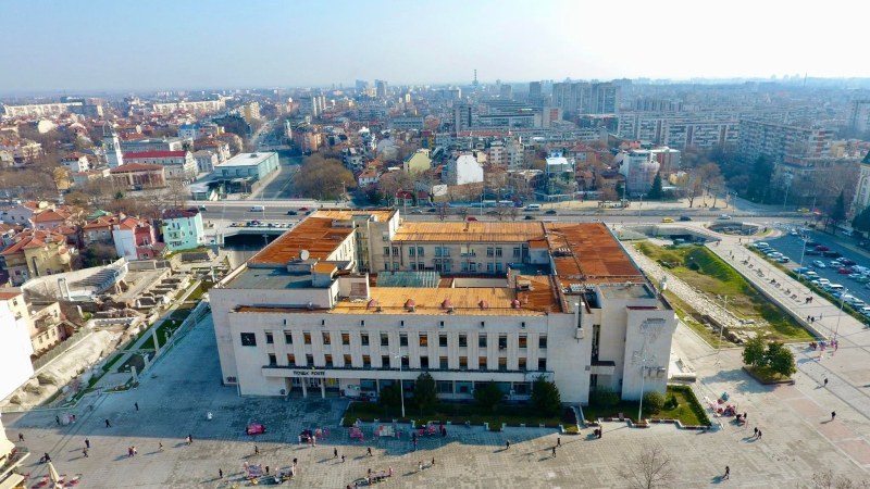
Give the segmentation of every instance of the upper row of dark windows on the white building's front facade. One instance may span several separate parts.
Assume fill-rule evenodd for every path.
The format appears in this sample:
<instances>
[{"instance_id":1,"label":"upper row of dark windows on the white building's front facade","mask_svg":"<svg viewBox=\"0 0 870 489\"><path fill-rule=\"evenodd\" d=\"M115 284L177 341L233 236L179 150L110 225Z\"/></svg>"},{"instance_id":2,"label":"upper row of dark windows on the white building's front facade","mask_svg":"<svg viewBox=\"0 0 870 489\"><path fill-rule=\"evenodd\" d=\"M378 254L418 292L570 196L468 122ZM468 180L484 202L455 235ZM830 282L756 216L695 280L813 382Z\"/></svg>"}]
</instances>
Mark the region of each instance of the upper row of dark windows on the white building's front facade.
<instances>
[{"instance_id":1,"label":"upper row of dark windows on the white building's front facade","mask_svg":"<svg viewBox=\"0 0 870 489\"><path fill-rule=\"evenodd\" d=\"M444 322L442 322L444 325ZM349 346L350 344L350 333L349 331L321 331L321 338L323 344L332 344L333 338L338 340L338 337L341 338L341 344ZM377 334L370 335L369 333L360 333L360 342L363 347L368 347L371 344L372 336L378 338ZM421 333L419 334L418 341L420 342L421 347L428 346L430 336L433 337L433 341L437 338L438 347L447 347L447 335L446 334L438 334L437 336L432 333ZM254 333L243 333L241 334L241 346L243 347L256 347L257 346L257 335ZM302 341L304 344L311 344L311 333L303 331L302 333ZM386 333L380 334L380 341L382 347L389 347L389 335ZM478 348L486 348L488 341L487 335L477 335L477 347ZM266 344L274 344L275 342L275 334L272 331L265 333L265 343ZM284 343L285 344L293 344L293 331L284 331ZM408 334L400 333L399 334L399 347L407 347L408 346ZM459 348L464 348L469 346L469 335L467 333L459 334ZM518 339L519 348L529 348L529 337L526 335L520 335ZM498 348L499 350L504 350L508 348L508 335L500 334L498 335ZM537 348L546 349L547 348L547 336L540 335L537 338Z\"/></svg>"}]
</instances>

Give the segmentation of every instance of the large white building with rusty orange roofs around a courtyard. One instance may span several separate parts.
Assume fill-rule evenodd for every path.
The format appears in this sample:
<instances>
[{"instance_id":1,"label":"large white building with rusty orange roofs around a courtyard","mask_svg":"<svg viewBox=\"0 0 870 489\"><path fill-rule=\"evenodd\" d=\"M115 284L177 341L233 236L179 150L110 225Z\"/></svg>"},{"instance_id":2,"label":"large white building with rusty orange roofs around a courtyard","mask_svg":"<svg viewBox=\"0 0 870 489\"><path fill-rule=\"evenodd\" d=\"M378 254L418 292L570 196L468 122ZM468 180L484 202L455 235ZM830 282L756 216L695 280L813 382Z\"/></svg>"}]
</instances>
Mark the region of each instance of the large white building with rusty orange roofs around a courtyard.
<instances>
[{"instance_id":1,"label":"large white building with rusty orange roofs around a courtyard","mask_svg":"<svg viewBox=\"0 0 870 489\"><path fill-rule=\"evenodd\" d=\"M318 211L210 290L226 385L243 396L495 381L515 400L663 392L673 310L601 223L402 222ZM643 386L643 387L642 387Z\"/></svg>"}]
</instances>

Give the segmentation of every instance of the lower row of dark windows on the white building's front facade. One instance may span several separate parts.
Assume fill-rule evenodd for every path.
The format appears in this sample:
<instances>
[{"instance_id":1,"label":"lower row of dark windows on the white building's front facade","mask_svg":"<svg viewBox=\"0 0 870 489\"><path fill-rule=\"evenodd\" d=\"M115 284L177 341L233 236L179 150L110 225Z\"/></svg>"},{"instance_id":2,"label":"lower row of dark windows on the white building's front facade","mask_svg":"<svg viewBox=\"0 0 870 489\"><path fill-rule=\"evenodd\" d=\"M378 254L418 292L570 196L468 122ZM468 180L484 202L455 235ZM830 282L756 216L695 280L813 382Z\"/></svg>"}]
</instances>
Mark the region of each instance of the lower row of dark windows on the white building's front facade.
<instances>
[{"instance_id":1,"label":"lower row of dark windows on the white building's front facade","mask_svg":"<svg viewBox=\"0 0 870 489\"><path fill-rule=\"evenodd\" d=\"M381 355L381 365L380 368L391 368L390 355ZM335 367L336 364L333 361L333 355L325 354L323 355L322 363L314 362L314 355L311 353L306 354L304 362L300 361L297 362L296 355L293 353L287 353L287 365L289 366L298 366L298 367L310 367L310 366L321 366L326 368ZM352 355L345 354L343 355L341 360L344 360L345 367L357 367L357 368L372 368L372 356L371 355L362 355L361 364L355 364ZM473 360L473 359L472 359ZM449 359L447 356L438 356L437 363L433 360L430 362L428 356L420 356L420 368L424 371L436 371L442 369L446 371L449 369ZM278 364L277 355L274 353L269 353L269 364L272 366L276 366ZM401 358L401 368L409 368L410 362L408 356ZM525 356L520 356L517 359L517 368L519 371L529 371L529 362ZM468 356L460 356L459 358L459 369L467 371L469 369L469 358ZM498 371L498 372L506 372L508 369L508 359L505 356L498 358L498 364L489 364L486 356L477 356L477 364L476 369L480 371ZM537 359L537 369L544 372L547 369L547 359Z\"/></svg>"}]
</instances>

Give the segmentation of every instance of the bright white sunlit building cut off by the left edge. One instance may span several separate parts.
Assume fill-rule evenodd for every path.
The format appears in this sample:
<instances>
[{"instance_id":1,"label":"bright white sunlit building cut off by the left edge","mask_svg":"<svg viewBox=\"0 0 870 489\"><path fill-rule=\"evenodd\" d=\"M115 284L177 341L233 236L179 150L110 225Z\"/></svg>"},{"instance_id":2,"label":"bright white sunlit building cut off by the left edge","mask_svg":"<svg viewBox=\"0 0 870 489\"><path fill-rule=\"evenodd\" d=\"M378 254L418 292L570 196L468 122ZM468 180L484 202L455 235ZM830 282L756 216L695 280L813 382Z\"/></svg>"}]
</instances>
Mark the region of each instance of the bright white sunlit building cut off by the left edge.
<instances>
[{"instance_id":1,"label":"bright white sunlit building cut off by the left edge","mask_svg":"<svg viewBox=\"0 0 870 489\"><path fill-rule=\"evenodd\" d=\"M29 311L21 289L0 289L0 399L5 399L34 375ZM5 434L0 427L0 454ZM0 459L2 460L2 459ZM0 480L5 474L0 475ZM8 486L12 487L12 486Z\"/></svg>"}]
</instances>

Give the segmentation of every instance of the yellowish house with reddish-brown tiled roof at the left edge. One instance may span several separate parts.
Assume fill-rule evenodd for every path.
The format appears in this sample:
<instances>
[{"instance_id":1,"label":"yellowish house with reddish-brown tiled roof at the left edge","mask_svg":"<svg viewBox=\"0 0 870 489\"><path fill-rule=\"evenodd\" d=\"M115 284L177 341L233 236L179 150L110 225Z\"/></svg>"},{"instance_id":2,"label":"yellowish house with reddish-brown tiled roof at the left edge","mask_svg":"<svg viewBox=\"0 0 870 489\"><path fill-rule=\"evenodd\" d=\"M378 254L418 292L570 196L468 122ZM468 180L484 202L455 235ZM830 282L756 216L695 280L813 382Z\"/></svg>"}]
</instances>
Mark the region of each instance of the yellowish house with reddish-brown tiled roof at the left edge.
<instances>
[{"instance_id":1,"label":"yellowish house with reddish-brown tiled roof at the left edge","mask_svg":"<svg viewBox=\"0 0 870 489\"><path fill-rule=\"evenodd\" d=\"M18 286L32 277L72 271L73 253L66 236L27 229L15 235L12 244L0 253L0 265L9 272L12 285Z\"/></svg>"}]
</instances>

